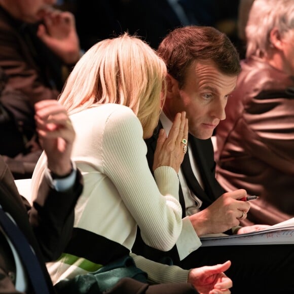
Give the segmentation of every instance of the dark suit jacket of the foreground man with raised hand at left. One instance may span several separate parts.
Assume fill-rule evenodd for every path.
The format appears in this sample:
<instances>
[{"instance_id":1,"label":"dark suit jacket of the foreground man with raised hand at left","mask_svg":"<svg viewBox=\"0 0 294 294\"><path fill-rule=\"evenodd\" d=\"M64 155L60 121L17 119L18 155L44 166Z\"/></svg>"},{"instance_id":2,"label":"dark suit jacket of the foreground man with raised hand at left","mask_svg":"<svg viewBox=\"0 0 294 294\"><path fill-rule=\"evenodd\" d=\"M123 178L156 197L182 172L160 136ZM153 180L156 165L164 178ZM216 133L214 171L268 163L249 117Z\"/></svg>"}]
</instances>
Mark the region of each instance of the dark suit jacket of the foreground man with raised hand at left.
<instances>
[{"instance_id":1,"label":"dark suit jacket of the foreground man with raised hand at left","mask_svg":"<svg viewBox=\"0 0 294 294\"><path fill-rule=\"evenodd\" d=\"M0 156L0 185L1 190L7 191L0 193L0 204L13 217L35 251L50 292L54 293L45 262L57 259L70 238L74 219L73 208L83 188L81 173L77 172L75 185L66 192L51 189L47 181L43 180L38 198L31 207L19 195L14 178ZM7 273L5 267L0 256L0 292L7 291L3 288Z\"/></svg>"}]
</instances>

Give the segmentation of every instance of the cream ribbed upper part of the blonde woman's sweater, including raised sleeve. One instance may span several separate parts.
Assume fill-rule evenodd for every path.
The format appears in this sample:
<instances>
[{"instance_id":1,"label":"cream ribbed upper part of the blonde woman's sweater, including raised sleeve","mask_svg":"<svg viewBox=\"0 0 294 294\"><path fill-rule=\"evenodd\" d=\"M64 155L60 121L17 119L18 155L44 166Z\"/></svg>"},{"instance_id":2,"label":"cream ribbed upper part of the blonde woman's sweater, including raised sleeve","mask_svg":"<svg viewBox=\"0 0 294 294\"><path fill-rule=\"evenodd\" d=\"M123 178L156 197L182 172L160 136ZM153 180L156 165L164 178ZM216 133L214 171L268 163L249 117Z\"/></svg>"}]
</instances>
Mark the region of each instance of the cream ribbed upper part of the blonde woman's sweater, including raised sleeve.
<instances>
[{"instance_id":1,"label":"cream ribbed upper part of the blonde woman's sweater, including raised sleeve","mask_svg":"<svg viewBox=\"0 0 294 294\"><path fill-rule=\"evenodd\" d=\"M126 106L105 104L77 113L71 120L77 133L73 160L84 178L75 227L131 250L138 225L146 244L171 249L182 228L178 176L173 168L162 166L154 180L138 118ZM72 276L75 269L67 273ZM187 279L187 271L182 276Z\"/></svg>"}]
</instances>

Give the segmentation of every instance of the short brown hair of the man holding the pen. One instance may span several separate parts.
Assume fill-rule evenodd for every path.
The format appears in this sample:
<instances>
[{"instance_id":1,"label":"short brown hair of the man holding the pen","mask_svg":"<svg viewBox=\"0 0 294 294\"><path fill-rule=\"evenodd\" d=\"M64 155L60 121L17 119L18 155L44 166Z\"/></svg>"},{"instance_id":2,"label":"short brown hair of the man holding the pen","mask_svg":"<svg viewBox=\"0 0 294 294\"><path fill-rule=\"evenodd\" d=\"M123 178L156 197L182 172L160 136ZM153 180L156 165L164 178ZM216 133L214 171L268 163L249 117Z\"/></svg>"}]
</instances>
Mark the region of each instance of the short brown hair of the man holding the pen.
<instances>
[{"instance_id":1,"label":"short brown hair of the man holding the pen","mask_svg":"<svg viewBox=\"0 0 294 294\"><path fill-rule=\"evenodd\" d=\"M195 60L211 60L229 76L237 76L241 70L239 54L228 36L210 26L176 28L163 39L157 52L179 87L183 86L187 68Z\"/></svg>"}]
</instances>

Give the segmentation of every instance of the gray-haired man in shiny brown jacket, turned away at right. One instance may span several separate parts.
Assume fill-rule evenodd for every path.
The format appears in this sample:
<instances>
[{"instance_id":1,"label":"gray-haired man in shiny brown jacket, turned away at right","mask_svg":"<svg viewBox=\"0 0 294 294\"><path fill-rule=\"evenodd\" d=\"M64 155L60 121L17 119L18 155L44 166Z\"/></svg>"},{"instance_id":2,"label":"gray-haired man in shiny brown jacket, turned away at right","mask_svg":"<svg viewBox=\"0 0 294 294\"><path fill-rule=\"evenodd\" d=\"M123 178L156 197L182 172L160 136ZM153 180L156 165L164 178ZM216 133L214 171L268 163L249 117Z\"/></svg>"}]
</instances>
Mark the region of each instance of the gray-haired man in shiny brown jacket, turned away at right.
<instances>
[{"instance_id":1,"label":"gray-haired man in shiny brown jacket, turned away at right","mask_svg":"<svg viewBox=\"0 0 294 294\"><path fill-rule=\"evenodd\" d=\"M247 219L273 225L294 215L294 1L255 0L246 59L216 130L217 179L246 189Z\"/></svg>"}]
</instances>

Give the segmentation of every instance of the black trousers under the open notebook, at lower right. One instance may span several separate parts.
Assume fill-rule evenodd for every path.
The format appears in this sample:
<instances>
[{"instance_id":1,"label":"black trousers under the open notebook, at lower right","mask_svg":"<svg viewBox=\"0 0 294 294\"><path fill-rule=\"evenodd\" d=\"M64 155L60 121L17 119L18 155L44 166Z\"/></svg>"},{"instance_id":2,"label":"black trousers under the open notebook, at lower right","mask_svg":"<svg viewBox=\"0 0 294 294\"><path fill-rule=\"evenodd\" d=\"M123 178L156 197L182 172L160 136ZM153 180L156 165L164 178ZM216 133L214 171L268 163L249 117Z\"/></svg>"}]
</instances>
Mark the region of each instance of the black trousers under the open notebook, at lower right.
<instances>
[{"instance_id":1,"label":"black trousers under the open notebook, at lower right","mask_svg":"<svg viewBox=\"0 0 294 294\"><path fill-rule=\"evenodd\" d=\"M232 262L232 294L294 293L294 245L200 247L178 263L184 269Z\"/></svg>"}]
</instances>

